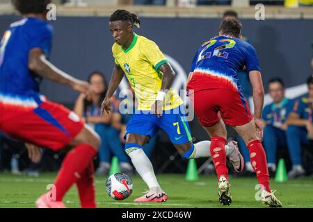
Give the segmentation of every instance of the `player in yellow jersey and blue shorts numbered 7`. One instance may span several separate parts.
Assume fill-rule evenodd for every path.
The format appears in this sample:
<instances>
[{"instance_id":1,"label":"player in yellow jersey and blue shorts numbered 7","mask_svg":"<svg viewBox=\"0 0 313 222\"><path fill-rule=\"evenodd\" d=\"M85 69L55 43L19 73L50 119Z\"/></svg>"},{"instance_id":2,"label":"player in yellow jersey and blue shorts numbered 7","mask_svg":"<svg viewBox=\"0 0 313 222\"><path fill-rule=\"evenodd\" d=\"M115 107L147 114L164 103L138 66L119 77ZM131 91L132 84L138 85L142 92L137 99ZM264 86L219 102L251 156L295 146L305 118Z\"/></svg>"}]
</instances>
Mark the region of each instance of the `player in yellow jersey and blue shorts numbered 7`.
<instances>
[{"instance_id":1,"label":"player in yellow jersey and blue shorts numbered 7","mask_svg":"<svg viewBox=\"0 0 313 222\"><path fill-rule=\"evenodd\" d=\"M170 88L175 72L157 44L134 33L134 26L138 27L139 24L138 17L127 10L116 10L111 15L109 28L115 42L112 47L115 68L102 103L102 114L111 113L111 96L126 74L134 89L138 107L127 123L125 151L150 189L134 201L162 202L167 200L167 195L161 189L152 164L143 151L145 143L157 133L158 128L162 128L179 154L190 159L209 157L211 142L191 142L183 101ZM235 170L241 171L243 158L236 143L230 142L226 152Z\"/></svg>"}]
</instances>

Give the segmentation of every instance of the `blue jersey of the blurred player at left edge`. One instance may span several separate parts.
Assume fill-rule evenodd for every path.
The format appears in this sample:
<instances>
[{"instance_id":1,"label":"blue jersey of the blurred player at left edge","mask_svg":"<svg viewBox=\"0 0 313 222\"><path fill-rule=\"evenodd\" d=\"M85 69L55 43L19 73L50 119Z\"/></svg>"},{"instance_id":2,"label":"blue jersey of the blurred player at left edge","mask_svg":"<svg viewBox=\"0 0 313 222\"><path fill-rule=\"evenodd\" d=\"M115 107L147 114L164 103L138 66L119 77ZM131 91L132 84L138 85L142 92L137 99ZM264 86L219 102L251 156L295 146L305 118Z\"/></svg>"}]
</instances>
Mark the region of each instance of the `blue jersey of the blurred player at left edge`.
<instances>
[{"instance_id":1,"label":"blue jersey of the blurred player at left edge","mask_svg":"<svg viewBox=\"0 0 313 222\"><path fill-rule=\"evenodd\" d=\"M0 101L4 105L34 105L40 98L41 78L28 67L29 51L40 48L49 57L52 27L42 19L26 17L10 25L0 45Z\"/></svg>"}]
</instances>

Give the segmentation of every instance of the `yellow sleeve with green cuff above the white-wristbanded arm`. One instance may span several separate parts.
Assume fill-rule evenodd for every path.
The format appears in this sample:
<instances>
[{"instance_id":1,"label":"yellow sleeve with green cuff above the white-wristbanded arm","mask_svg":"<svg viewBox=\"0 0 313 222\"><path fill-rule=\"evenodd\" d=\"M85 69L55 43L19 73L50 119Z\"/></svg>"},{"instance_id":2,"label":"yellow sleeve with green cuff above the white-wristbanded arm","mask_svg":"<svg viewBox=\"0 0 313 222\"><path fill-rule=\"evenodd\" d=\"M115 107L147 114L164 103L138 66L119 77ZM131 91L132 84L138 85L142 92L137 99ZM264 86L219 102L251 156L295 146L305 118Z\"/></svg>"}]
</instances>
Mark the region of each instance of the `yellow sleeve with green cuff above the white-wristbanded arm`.
<instances>
[{"instance_id":1,"label":"yellow sleeve with green cuff above the white-wristbanded arm","mask_svg":"<svg viewBox=\"0 0 313 222\"><path fill-rule=\"evenodd\" d=\"M143 47L141 47L141 50L147 62L149 62L156 70L158 70L161 65L168 62L159 49L159 46L157 46L157 44L151 40L146 40L143 42Z\"/></svg>"}]
</instances>

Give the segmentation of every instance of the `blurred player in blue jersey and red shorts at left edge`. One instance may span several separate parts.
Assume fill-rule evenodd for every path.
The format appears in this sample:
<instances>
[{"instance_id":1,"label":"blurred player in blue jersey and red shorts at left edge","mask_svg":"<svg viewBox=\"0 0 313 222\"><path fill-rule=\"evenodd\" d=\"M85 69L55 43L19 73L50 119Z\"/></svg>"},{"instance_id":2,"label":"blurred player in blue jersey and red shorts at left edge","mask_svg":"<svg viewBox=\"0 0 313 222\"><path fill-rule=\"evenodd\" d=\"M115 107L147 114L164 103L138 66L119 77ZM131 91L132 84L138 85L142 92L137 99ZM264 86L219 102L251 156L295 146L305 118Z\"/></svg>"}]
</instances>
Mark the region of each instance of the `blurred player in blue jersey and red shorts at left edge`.
<instances>
[{"instance_id":1,"label":"blurred player in blue jersey and red shorts at left edge","mask_svg":"<svg viewBox=\"0 0 313 222\"><path fill-rule=\"evenodd\" d=\"M52 27L46 22L49 0L13 0L22 14L3 36L0 47L0 130L27 143L34 161L39 147L58 151L72 148L47 194L37 207L63 208L66 191L76 183L82 207L96 207L93 157L100 144L97 134L81 119L57 103L40 95L39 83L47 78L72 87L90 98L87 82L65 74L48 62ZM33 145L31 145L33 144Z\"/></svg>"}]
</instances>

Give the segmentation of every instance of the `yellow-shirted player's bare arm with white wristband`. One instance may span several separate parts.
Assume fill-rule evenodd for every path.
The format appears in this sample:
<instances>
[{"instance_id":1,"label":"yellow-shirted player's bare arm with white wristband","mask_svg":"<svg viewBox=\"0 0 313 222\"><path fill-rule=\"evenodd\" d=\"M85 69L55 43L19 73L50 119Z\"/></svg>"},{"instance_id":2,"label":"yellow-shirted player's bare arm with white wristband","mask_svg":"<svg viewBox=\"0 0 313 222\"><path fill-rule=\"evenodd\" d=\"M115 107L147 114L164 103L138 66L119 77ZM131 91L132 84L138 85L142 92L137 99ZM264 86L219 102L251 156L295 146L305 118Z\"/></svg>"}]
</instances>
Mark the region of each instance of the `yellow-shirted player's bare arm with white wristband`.
<instances>
[{"instance_id":1,"label":"yellow-shirted player's bare arm with white wristband","mask_svg":"<svg viewBox=\"0 0 313 222\"><path fill-rule=\"evenodd\" d=\"M151 112L157 114L157 117L162 116L163 100L166 96L166 92L170 89L172 85L172 80L175 77L175 71L172 69L168 62L164 63L159 67L159 71L163 74L161 91L158 92L157 99L155 103L151 106Z\"/></svg>"}]
</instances>

